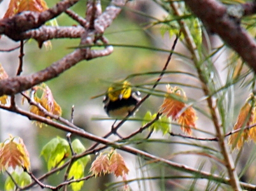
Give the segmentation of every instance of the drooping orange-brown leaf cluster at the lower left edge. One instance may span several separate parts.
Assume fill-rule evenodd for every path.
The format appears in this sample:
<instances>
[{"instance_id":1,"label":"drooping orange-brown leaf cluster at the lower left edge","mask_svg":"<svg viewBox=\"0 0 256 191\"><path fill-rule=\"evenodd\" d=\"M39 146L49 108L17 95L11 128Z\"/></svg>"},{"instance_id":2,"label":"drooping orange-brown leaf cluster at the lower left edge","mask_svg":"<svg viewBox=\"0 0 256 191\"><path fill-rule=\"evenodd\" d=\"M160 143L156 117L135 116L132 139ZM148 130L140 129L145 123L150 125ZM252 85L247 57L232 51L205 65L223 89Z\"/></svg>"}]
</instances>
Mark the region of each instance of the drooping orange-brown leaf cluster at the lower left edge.
<instances>
[{"instance_id":1,"label":"drooping orange-brown leaf cluster at the lower left edge","mask_svg":"<svg viewBox=\"0 0 256 191\"><path fill-rule=\"evenodd\" d=\"M8 143L4 143L0 149L0 169L8 167L15 169L17 166L29 169L29 155L22 139L20 143L15 143L14 138L10 138Z\"/></svg>"}]
</instances>

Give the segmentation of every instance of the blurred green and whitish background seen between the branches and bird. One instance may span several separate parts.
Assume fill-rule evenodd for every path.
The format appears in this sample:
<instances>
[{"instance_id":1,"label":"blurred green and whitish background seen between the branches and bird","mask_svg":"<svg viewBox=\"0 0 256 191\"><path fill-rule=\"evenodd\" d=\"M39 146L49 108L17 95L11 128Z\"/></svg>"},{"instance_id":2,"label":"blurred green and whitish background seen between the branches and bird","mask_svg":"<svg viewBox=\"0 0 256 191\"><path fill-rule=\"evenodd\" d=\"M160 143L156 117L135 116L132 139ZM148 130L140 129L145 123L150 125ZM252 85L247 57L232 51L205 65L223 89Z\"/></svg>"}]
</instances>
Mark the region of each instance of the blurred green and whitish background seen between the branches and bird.
<instances>
[{"instance_id":1,"label":"blurred green and whitish background seen between the branches and bird","mask_svg":"<svg viewBox=\"0 0 256 191\"><path fill-rule=\"evenodd\" d=\"M56 0L46 0L49 7L52 7L58 1ZM101 1L103 5L103 10L110 1ZM0 17L3 17L7 7L8 0L4 0L0 4ZM79 1L71 8L82 17L85 15L87 1ZM144 14L144 15L143 15ZM148 15L148 16L147 16ZM160 34L160 27L148 27L150 22L153 22L153 18L164 19L167 16L166 11L160 8L159 5L153 1L148 0L137 0L131 1L125 6L122 13L118 18L111 24L111 26L106 30L105 37L109 40L110 44L118 45L138 45L138 46L150 46L155 48L162 48L164 50L171 50L173 45L173 36L169 34ZM66 25L77 25L74 20L71 20L67 15L62 14L57 18L57 22L60 26ZM211 41L213 46L221 46L221 41L217 36L212 36ZM49 50L43 46L43 48L38 48L38 43L34 40L29 40L25 44L25 56L24 56L24 71L22 75L31 74L45 67L50 66L53 62L61 59L64 55L73 51L70 47L78 46L80 39L53 39L51 41L52 48ZM2 36L0 39L0 49L6 50L18 46L19 43L15 43L10 39ZM182 43L178 43L176 52L188 54L185 46ZM13 52L0 52L0 63L3 65L4 69L8 72L9 76L14 76L17 72L18 67L18 55L19 50ZM96 99L91 99L99 94L104 94L107 88L113 81L123 80L129 74L134 73L145 73L151 71L161 71L169 53L146 50L145 48L124 48L124 47L114 47L114 52L107 56L101 57L89 61L83 61L78 63L75 67L72 67L63 74L60 74L58 78L50 81L46 81L46 84L52 90L55 101L62 108L62 117L70 119L71 118L71 108L75 106L74 113L74 123L79 127L82 127L88 132L96 134L97 136L104 136L110 131L111 125L114 120L93 120L94 118L107 118L106 113L103 110L103 96ZM224 67L224 63L227 63L227 50L222 51L222 54L218 54L213 58L215 66L218 69L221 79L225 80L227 75L227 69ZM173 55L171 63L169 64L168 71L189 71L190 73L196 73L196 70L190 65L188 60L183 60L177 55ZM157 79L155 76L138 76L132 78L130 81L132 84L141 83L153 83ZM194 78L190 78L184 75L178 74L167 74L164 76L163 80L169 83L185 83L188 82L191 85L197 85L200 87L200 83ZM165 90L165 85L159 85L159 90ZM199 99L203 96L203 92L194 88L184 88L188 97L193 99ZM236 91L236 96L241 101L238 101L236 108L234 110L234 120L238 115L239 108L243 104L246 94L246 88L241 88L241 90ZM142 93L143 94L143 93ZM143 94L145 95L145 94ZM151 111L155 113L159 110L162 104L163 97L150 97L143 106L141 106L136 117L143 118L146 111ZM20 96L17 95L17 103L20 103ZM205 103L198 103L197 106L204 107ZM29 106L25 104L21 106L25 110L28 110ZM135 129L141 126L141 122L127 122L124 127L120 128L120 134L123 136L128 135ZM199 120L197 121L197 127L205 131L213 132L213 127L208 118L204 115L199 114ZM232 127L232 124L230 124ZM180 127L173 125L172 131L179 133ZM29 132L29 133L28 133ZM65 138L66 133L54 129L52 127L36 127L27 118L15 115L13 113L8 113L6 111L0 112L0 138L1 142L8 138L8 134L13 136L20 136L24 139L25 145L27 146L30 157L32 171L36 176L40 176L46 173L46 163L43 157L40 157L40 151L43 146L48 143L52 138L60 136ZM195 131L194 136L202 136L201 132ZM205 134L204 134L205 135ZM141 138L145 134L139 135ZM75 138L75 136L73 136ZM162 136L162 133L154 133L153 138L166 138L170 139L168 136ZM115 136L111 139L116 139ZM173 141L190 142L189 140L172 138ZM89 147L92 144L90 141L82 139L85 147ZM218 147L215 143L202 143L205 145L211 145ZM159 150L160 146L160 150ZM247 146L247 145L246 145ZM195 155L182 155L182 157L173 157L171 153L178 152L181 150L191 150L187 145L160 145L159 143L154 144L143 144L139 145L139 148L145 150L146 152L159 155L166 159L171 159L182 164L187 164L193 167L199 167L199 164L206 164L208 161L206 159L200 159ZM252 148L250 148L252 149ZM127 162L130 167L129 178L139 178L143 176L153 176L156 174L178 174L177 171L172 169L166 169L164 166L144 166L142 159L131 156L127 153L121 153L125 157L125 162ZM92 161L94 156L92 156ZM244 161L246 162L246 160ZM210 164L210 162L208 162ZM143 167L144 166L144 167ZM89 167L88 167L89 168ZM210 169L209 166L205 165L205 169ZM135 171L134 171L135 169ZM255 166L252 166L250 171L254 171ZM87 171L85 171L87 172ZM255 171L254 171L255 172ZM60 174L62 174L61 172ZM148 174L147 174L148 173ZM55 174L48 178L48 183L57 185L62 181L62 176L60 174ZM249 172L250 174L250 172ZM252 176L251 176L252 177ZM4 189L4 180L6 176L2 173L0 174L0 190ZM90 179L85 181L83 190L105 190L106 187L104 183L111 181L111 176L104 176L102 178ZM254 177L253 177L254 178ZM113 180L112 180L113 181ZM162 180L162 181L135 181L131 184L132 190L185 190L186 188L181 187L181 180ZM199 183L204 187L204 182ZM199 185L200 188L200 185ZM36 188L39 190L39 187Z\"/></svg>"}]
</instances>

